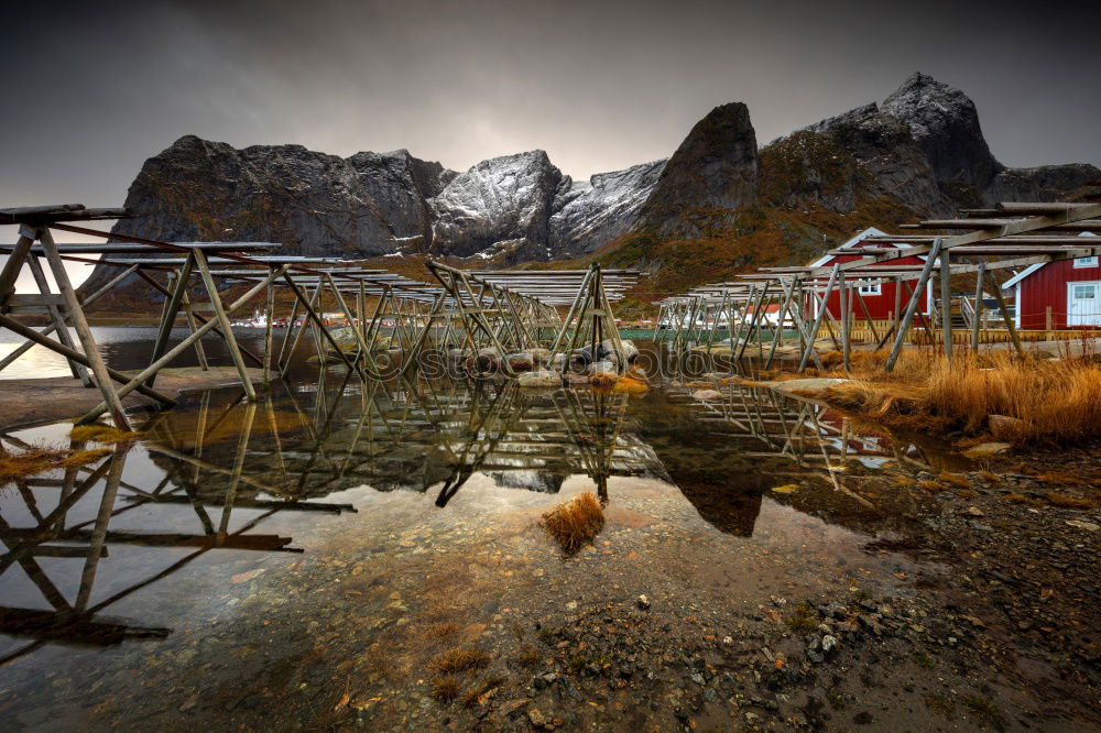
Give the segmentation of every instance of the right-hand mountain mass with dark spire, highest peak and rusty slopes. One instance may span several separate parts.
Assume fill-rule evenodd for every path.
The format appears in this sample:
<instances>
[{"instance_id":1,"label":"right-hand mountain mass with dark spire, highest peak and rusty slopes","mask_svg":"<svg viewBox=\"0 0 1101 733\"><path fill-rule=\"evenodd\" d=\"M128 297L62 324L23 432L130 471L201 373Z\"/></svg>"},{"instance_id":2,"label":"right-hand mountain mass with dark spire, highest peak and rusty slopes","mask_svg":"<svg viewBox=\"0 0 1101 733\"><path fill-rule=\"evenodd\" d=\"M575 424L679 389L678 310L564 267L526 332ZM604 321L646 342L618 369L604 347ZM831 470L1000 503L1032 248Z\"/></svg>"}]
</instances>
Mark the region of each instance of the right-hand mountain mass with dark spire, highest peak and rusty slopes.
<instances>
[{"instance_id":1,"label":"right-hand mountain mass with dark spire, highest peak and rusty slopes","mask_svg":"<svg viewBox=\"0 0 1101 733\"><path fill-rule=\"evenodd\" d=\"M636 296L652 300L756 266L804 264L864 227L1003 200L1058 200L1099 179L1092 165L1002 165L967 95L914 74L882 105L760 150L744 106L716 108L602 260L651 270Z\"/></svg>"}]
</instances>

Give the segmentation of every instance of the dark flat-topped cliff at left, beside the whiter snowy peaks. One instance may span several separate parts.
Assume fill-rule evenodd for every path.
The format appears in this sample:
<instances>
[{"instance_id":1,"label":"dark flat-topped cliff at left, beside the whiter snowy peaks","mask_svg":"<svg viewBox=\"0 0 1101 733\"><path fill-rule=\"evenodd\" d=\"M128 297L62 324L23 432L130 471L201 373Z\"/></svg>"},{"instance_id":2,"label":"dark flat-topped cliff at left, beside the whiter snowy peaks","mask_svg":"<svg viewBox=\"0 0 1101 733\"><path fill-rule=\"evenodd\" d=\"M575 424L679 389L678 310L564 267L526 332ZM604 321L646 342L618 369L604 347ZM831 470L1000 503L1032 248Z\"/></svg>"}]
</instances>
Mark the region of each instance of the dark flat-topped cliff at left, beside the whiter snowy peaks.
<instances>
[{"instance_id":1,"label":"dark flat-topped cliff at left, beside the whiter snowy peaks","mask_svg":"<svg viewBox=\"0 0 1101 733\"><path fill-rule=\"evenodd\" d=\"M113 231L153 239L283 242L285 251L385 254L430 236L418 187L438 190L438 163L406 151L345 160L301 145L236 150L194 135L145 162Z\"/></svg>"}]
</instances>

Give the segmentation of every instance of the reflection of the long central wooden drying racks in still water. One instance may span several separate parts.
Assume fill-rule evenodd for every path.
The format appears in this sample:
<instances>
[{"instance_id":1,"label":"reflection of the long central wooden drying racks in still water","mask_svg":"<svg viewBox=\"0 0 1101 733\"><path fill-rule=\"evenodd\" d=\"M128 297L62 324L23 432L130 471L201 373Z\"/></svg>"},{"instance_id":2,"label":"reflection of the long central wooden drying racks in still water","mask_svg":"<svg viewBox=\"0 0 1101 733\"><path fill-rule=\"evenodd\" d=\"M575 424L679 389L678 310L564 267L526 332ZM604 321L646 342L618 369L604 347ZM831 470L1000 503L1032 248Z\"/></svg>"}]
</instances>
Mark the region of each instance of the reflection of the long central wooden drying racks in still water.
<instances>
[{"instance_id":1,"label":"reflection of the long central wooden drying racks in still water","mask_svg":"<svg viewBox=\"0 0 1101 733\"><path fill-rule=\"evenodd\" d=\"M316 391L286 390L261 395L259 403L229 400L215 408L204 394L195 436L178 435L172 415L156 420L146 448L167 461L178 483L197 485L206 475L204 495L212 486L248 488L282 502L317 496L347 485L379 489L403 486L425 492L439 486L436 502L445 505L476 472L534 470L564 477L587 473L607 493L613 473L639 474L642 466L621 437L626 395L566 391L553 398L525 393L512 382L484 380L410 380L328 384L321 370ZM312 400L304 403L303 400ZM257 419L252 411L266 414ZM281 413L284 429L277 425ZM286 420L286 415L295 417ZM206 437L239 430L233 466L219 466ZM250 431L266 431L263 447L252 447ZM229 453L228 450L222 452ZM161 499L184 503L186 497ZM268 505L268 500L238 497L236 506ZM325 511L316 501L307 511Z\"/></svg>"}]
</instances>

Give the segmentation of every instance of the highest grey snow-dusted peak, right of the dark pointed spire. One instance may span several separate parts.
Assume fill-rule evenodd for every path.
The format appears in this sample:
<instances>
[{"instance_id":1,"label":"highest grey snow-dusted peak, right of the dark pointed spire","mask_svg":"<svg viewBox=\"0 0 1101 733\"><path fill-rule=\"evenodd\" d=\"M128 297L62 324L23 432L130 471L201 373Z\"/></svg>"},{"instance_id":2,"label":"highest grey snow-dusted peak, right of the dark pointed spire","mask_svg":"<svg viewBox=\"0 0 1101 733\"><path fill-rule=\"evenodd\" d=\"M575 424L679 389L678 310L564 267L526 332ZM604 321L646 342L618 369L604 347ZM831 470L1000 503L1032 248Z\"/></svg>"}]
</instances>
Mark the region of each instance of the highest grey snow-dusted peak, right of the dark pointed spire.
<instances>
[{"instance_id":1,"label":"highest grey snow-dusted peak, right of the dark pointed spire","mask_svg":"<svg viewBox=\"0 0 1101 733\"><path fill-rule=\"evenodd\" d=\"M802 167L803 175L788 189L789 205L837 212L883 196L919 216L1000 200L1054 200L1101 175L1081 164L1007 168L990 152L974 102L920 73L882 105L864 105L804 128L762 154Z\"/></svg>"}]
</instances>

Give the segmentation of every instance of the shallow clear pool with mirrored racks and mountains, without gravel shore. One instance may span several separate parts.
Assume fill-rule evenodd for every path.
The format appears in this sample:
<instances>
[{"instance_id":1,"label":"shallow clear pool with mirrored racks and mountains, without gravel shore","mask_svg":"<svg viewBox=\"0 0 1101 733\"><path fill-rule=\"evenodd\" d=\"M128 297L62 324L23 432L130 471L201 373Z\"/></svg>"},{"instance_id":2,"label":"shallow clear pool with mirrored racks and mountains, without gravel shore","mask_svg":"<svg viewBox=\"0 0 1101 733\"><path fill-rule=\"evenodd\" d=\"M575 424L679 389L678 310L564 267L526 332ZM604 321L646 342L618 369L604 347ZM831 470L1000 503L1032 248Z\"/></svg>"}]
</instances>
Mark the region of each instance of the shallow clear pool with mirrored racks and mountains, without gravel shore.
<instances>
[{"instance_id":1,"label":"shallow clear pool with mirrored racks and mountains, without gravel shore","mask_svg":"<svg viewBox=\"0 0 1101 733\"><path fill-rule=\"evenodd\" d=\"M762 389L691 392L329 370L258 403L190 393L133 445L0 491L6 726L330 724L379 699L396 725L443 625L477 641L568 599L752 605L916 571L864 547L914 521L893 488L950 453ZM564 557L536 525L584 491L607 525Z\"/></svg>"}]
</instances>

